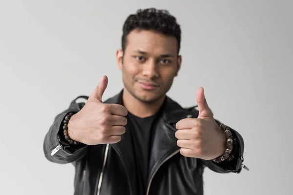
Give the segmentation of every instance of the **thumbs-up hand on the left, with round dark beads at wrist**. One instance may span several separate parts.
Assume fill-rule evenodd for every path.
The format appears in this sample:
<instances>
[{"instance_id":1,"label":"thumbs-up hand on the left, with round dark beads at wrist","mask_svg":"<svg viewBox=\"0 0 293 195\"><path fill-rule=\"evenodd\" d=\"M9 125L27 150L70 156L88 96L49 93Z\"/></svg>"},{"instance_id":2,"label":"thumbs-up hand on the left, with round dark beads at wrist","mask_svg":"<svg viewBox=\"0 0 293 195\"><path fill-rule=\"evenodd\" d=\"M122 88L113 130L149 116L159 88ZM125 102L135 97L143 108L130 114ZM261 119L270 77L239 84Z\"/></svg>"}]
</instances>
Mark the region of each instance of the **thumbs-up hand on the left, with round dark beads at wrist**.
<instances>
[{"instance_id":1,"label":"thumbs-up hand on the left, with round dark beads at wrist","mask_svg":"<svg viewBox=\"0 0 293 195\"><path fill-rule=\"evenodd\" d=\"M104 76L80 112L68 123L71 139L86 145L117 143L125 133L127 110L119 104L106 104L102 96L108 85Z\"/></svg>"}]
</instances>

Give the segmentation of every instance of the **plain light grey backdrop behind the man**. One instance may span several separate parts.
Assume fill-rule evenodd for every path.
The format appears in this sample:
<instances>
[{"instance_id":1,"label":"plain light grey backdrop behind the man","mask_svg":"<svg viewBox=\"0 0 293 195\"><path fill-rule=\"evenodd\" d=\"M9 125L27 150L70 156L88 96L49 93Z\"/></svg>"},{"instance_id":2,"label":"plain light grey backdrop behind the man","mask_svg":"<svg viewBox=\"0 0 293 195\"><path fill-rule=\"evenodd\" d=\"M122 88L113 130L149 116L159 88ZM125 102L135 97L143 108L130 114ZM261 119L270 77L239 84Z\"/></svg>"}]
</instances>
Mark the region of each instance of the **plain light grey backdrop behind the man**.
<instances>
[{"instance_id":1,"label":"plain light grey backdrop behind the man","mask_svg":"<svg viewBox=\"0 0 293 195\"><path fill-rule=\"evenodd\" d=\"M292 195L293 1L1 0L0 194L73 194L71 164L47 161L54 117L103 75L104 99L123 85L115 60L138 8L168 9L182 27L183 64L168 95L196 104L245 139L240 175L206 169L206 195Z\"/></svg>"}]
</instances>

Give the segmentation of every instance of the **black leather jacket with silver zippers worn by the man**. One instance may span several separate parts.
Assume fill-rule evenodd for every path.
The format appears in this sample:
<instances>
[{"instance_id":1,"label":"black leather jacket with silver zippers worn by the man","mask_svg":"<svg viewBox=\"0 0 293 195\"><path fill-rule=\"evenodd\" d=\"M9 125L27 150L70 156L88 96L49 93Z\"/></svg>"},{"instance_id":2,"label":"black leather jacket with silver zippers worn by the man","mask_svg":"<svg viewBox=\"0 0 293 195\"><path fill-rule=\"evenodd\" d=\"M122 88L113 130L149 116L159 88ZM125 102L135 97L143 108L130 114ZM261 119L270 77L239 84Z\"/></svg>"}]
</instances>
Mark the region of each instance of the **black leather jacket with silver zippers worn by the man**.
<instances>
[{"instance_id":1,"label":"black leather jacket with silver zippers worn by the man","mask_svg":"<svg viewBox=\"0 0 293 195\"><path fill-rule=\"evenodd\" d=\"M122 92L104 103L120 103ZM78 98L87 98L84 96ZM84 103L73 100L70 107L59 114L45 136L43 150L52 162L75 166L75 195L141 195L135 185L133 165L135 159L130 133L127 131L116 144L70 147L63 141L63 118L69 112L79 112ZM146 195L203 195L204 167L218 173L240 173L242 170L244 142L234 130L237 148L234 161L215 163L211 160L185 157L180 154L175 137L175 124L186 117L197 117L194 107L184 109L170 98L166 98L163 114L154 131L149 177Z\"/></svg>"}]
</instances>

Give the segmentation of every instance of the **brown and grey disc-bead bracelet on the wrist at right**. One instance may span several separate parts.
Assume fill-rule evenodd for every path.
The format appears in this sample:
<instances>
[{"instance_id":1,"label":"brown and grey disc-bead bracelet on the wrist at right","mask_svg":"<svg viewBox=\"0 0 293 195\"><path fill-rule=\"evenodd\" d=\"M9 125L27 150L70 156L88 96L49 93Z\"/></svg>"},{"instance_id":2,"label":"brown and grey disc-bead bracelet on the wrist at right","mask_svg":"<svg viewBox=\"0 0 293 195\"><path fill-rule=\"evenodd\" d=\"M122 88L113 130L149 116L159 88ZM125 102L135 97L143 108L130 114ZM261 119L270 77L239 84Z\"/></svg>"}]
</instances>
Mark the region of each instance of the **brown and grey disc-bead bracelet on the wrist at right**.
<instances>
[{"instance_id":1,"label":"brown and grey disc-bead bracelet on the wrist at right","mask_svg":"<svg viewBox=\"0 0 293 195\"><path fill-rule=\"evenodd\" d=\"M212 159L212 161L214 161L216 163L222 162L224 160L231 161L234 158L234 156L231 154L232 149L233 149L233 139L232 139L232 134L230 132L230 127L228 127L222 123L220 123L218 125L221 127L221 129L226 134L226 137L227 137L226 149L225 149L225 152L222 156L216 157L216 158Z\"/></svg>"}]
</instances>

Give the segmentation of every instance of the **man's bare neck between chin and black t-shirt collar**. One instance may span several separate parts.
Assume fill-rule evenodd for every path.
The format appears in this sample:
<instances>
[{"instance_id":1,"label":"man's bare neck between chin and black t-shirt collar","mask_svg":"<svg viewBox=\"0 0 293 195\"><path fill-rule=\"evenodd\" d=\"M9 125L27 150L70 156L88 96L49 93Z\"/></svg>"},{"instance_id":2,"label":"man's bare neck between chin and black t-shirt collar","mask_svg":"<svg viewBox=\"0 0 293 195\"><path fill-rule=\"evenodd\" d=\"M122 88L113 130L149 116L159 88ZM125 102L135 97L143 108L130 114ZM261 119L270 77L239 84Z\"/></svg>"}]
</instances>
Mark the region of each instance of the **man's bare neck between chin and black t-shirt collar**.
<instances>
[{"instance_id":1,"label":"man's bare neck between chin and black t-shirt collar","mask_svg":"<svg viewBox=\"0 0 293 195\"><path fill-rule=\"evenodd\" d=\"M156 114L164 103L165 98L166 96L163 96L154 102L143 102L133 97L125 88L122 95L124 107L131 114L141 118Z\"/></svg>"}]
</instances>

